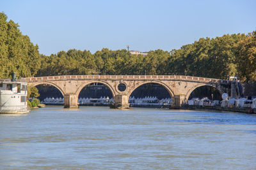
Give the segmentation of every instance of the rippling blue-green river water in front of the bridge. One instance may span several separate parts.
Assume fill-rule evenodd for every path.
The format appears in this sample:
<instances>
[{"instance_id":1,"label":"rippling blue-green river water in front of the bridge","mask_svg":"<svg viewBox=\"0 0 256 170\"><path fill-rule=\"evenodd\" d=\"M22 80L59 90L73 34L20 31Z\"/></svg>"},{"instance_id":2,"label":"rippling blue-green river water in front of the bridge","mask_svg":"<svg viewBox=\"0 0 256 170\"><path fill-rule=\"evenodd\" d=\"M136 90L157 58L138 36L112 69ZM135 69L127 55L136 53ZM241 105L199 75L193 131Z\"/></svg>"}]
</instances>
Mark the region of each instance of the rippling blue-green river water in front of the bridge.
<instances>
[{"instance_id":1,"label":"rippling blue-green river water in front of the bridge","mask_svg":"<svg viewBox=\"0 0 256 170\"><path fill-rule=\"evenodd\" d=\"M0 129L0 169L256 169L244 113L47 107Z\"/></svg>"}]
</instances>

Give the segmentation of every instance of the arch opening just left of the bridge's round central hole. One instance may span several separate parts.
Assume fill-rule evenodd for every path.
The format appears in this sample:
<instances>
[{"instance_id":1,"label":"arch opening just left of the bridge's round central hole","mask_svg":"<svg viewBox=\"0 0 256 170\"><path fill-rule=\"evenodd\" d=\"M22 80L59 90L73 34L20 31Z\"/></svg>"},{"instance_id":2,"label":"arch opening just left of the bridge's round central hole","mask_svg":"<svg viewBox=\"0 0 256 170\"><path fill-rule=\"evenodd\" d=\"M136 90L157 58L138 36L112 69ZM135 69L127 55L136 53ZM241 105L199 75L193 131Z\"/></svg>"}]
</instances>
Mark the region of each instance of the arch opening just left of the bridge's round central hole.
<instances>
[{"instance_id":1,"label":"arch opening just left of the bridge's round central hole","mask_svg":"<svg viewBox=\"0 0 256 170\"><path fill-rule=\"evenodd\" d=\"M102 83L86 85L78 96L80 106L109 106L113 102L111 90Z\"/></svg>"}]
</instances>

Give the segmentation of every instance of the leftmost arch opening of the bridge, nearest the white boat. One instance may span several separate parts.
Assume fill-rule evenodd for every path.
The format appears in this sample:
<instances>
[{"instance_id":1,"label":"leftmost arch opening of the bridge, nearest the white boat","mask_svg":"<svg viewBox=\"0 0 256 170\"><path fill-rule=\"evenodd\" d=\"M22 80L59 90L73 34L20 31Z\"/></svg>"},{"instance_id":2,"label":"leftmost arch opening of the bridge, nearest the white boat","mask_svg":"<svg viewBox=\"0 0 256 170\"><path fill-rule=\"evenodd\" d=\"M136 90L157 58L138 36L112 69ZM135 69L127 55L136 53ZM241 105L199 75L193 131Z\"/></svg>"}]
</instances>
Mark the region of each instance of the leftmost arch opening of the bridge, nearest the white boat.
<instances>
[{"instance_id":1,"label":"leftmost arch opening of the bridge, nearest the white boat","mask_svg":"<svg viewBox=\"0 0 256 170\"><path fill-rule=\"evenodd\" d=\"M56 87L48 84L42 84L36 85L36 89L38 89L38 93L40 94L40 96L37 97L40 100L40 103L63 106L64 97Z\"/></svg>"}]
</instances>

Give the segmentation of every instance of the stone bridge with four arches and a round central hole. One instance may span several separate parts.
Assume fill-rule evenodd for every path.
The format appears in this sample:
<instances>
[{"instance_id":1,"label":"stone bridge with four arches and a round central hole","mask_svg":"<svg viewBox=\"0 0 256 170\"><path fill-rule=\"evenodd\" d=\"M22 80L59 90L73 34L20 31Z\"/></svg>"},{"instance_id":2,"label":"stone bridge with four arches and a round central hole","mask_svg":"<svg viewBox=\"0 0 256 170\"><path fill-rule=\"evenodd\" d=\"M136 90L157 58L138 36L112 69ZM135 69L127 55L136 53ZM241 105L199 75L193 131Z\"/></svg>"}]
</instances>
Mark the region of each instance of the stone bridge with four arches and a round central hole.
<instances>
[{"instance_id":1,"label":"stone bridge with four arches and a round central hole","mask_svg":"<svg viewBox=\"0 0 256 170\"><path fill-rule=\"evenodd\" d=\"M32 87L36 85L52 85L60 90L65 99L64 108L78 108L78 96L81 90L90 83L102 83L111 90L114 104L118 108L129 108L129 96L146 83L162 85L173 99L173 106L182 106L197 87L204 85L215 87L220 94L225 92L221 85L227 80L177 75L70 75L44 76L26 78ZM125 85L120 91L118 85Z\"/></svg>"}]
</instances>

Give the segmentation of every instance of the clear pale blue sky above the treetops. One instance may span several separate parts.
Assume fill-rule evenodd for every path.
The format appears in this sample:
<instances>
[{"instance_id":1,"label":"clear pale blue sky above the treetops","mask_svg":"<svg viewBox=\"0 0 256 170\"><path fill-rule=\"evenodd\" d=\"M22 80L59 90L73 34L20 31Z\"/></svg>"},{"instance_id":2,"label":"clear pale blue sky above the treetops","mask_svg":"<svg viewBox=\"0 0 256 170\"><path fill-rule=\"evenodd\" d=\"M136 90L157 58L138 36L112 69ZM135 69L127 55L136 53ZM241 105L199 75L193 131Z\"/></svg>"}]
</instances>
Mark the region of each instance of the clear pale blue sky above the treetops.
<instances>
[{"instance_id":1,"label":"clear pale blue sky above the treetops","mask_svg":"<svg viewBox=\"0 0 256 170\"><path fill-rule=\"evenodd\" d=\"M92 53L130 45L170 51L199 38L256 30L256 1L1 1L40 53L76 48Z\"/></svg>"}]
</instances>

